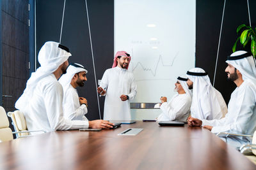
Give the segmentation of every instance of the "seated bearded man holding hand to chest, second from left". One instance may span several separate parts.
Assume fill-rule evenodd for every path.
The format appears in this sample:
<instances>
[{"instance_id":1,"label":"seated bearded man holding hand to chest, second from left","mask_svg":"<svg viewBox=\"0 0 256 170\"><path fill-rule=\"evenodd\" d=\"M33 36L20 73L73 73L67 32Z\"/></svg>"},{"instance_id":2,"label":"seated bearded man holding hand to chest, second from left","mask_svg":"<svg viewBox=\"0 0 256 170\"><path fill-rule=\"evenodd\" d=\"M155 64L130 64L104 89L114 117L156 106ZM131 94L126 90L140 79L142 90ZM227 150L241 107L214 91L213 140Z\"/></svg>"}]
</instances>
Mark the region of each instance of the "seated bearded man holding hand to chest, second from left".
<instances>
[{"instance_id":1,"label":"seated bearded man holding hand to chest, second from left","mask_svg":"<svg viewBox=\"0 0 256 170\"><path fill-rule=\"evenodd\" d=\"M69 120L86 120L84 116L87 111L87 100L79 97L77 87L83 87L87 81L88 71L81 64L72 63L68 66L67 73L63 74L59 80L63 87L63 113Z\"/></svg>"}]
</instances>

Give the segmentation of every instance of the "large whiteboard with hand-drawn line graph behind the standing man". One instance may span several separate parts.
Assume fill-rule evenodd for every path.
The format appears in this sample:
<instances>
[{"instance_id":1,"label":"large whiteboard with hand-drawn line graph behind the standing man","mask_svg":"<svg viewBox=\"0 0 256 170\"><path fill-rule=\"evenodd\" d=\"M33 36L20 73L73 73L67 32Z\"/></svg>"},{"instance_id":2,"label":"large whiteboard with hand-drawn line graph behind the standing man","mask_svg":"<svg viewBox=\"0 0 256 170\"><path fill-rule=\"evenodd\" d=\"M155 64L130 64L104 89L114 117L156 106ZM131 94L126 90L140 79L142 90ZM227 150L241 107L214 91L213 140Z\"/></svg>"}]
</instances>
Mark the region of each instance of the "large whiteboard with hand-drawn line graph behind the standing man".
<instances>
[{"instance_id":1,"label":"large whiteboard with hand-drawn line graph behind the standing man","mask_svg":"<svg viewBox=\"0 0 256 170\"><path fill-rule=\"evenodd\" d=\"M115 52L131 54L138 93L132 103L174 95L178 76L195 67L196 0L115 0ZM132 120L160 110L131 110Z\"/></svg>"}]
</instances>

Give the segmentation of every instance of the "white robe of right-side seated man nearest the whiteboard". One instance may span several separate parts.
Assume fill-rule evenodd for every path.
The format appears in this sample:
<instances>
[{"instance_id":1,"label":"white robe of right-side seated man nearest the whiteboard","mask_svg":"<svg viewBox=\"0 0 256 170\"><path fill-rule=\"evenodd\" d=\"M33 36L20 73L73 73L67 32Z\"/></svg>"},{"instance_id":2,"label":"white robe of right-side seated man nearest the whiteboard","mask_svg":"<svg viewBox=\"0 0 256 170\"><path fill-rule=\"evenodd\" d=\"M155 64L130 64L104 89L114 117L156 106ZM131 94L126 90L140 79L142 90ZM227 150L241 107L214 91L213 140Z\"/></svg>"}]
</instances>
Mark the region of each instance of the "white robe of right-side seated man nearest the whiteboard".
<instances>
[{"instance_id":1,"label":"white robe of right-side seated man nearest the whiteboard","mask_svg":"<svg viewBox=\"0 0 256 170\"><path fill-rule=\"evenodd\" d=\"M167 103L161 104L160 109L163 111L157 120L168 121L186 121L191 106L191 96L189 94L175 94L172 99Z\"/></svg>"}]
</instances>

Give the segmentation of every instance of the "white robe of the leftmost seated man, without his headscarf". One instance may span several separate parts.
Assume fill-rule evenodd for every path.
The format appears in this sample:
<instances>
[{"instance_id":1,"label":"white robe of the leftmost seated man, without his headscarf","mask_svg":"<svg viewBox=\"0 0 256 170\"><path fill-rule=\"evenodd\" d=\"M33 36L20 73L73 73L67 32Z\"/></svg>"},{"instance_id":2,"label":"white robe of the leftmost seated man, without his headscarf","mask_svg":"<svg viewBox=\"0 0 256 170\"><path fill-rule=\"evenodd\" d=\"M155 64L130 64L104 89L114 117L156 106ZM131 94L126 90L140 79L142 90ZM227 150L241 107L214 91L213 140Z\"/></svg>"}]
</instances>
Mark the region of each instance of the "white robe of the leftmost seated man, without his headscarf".
<instances>
[{"instance_id":1,"label":"white robe of the leftmost seated man, without his headscarf","mask_svg":"<svg viewBox=\"0 0 256 170\"><path fill-rule=\"evenodd\" d=\"M88 121L67 120L63 117L63 89L54 74L49 74L36 83L33 96L25 108L28 130L46 132L88 128Z\"/></svg>"}]
</instances>

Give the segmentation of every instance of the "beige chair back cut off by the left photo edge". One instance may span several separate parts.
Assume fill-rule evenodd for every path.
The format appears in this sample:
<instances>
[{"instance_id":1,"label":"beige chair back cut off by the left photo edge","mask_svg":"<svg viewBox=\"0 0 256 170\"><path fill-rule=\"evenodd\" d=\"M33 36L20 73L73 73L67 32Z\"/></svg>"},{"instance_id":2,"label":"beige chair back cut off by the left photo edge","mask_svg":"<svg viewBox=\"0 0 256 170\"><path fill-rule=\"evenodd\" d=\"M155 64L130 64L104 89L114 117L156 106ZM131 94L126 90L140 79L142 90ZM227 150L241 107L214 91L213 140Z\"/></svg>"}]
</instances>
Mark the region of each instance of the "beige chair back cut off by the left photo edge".
<instances>
[{"instance_id":1,"label":"beige chair back cut off by the left photo edge","mask_svg":"<svg viewBox=\"0 0 256 170\"><path fill-rule=\"evenodd\" d=\"M9 127L9 120L6 111L0 106L0 142L13 139L12 130Z\"/></svg>"}]
</instances>

